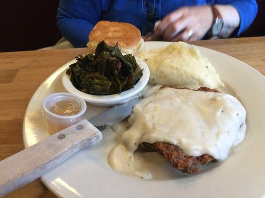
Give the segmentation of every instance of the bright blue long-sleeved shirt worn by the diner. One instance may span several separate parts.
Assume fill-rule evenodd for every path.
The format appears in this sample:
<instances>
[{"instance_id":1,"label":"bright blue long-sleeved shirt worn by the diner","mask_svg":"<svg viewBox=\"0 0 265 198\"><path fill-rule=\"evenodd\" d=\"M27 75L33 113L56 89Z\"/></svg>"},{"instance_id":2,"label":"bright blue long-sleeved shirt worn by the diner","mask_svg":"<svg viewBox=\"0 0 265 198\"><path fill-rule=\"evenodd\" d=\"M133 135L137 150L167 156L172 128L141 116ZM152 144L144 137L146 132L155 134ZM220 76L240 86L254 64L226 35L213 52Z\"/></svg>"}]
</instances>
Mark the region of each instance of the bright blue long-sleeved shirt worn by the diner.
<instances>
[{"instance_id":1,"label":"bright blue long-sleeved shirt worn by the diner","mask_svg":"<svg viewBox=\"0 0 265 198\"><path fill-rule=\"evenodd\" d=\"M57 25L71 44L86 47L89 32L100 20L131 23L146 35L157 20L177 8L204 4L234 6L240 15L237 35L251 25L258 11L256 0L60 0Z\"/></svg>"}]
</instances>

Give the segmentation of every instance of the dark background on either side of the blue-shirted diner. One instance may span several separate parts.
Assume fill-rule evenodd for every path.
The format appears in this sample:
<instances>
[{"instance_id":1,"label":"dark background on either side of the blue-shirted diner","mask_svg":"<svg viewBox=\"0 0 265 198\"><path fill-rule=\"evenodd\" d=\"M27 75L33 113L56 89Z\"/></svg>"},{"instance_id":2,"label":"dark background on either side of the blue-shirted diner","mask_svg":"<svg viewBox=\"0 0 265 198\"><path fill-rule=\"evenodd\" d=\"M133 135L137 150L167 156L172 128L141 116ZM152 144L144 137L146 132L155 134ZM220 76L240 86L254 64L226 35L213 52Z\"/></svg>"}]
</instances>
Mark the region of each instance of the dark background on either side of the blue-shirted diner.
<instances>
[{"instance_id":1,"label":"dark background on either side of the blue-shirted diner","mask_svg":"<svg viewBox=\"0 0 265 198\"><path fill-rule=\"evenodd\" d=\"M258 15L241 37L265 36L265 0L257 0ZM40 49L60 40L56 26L59 0L5 0L0 6L0 52Z\"/></svg>"}]
</instances>

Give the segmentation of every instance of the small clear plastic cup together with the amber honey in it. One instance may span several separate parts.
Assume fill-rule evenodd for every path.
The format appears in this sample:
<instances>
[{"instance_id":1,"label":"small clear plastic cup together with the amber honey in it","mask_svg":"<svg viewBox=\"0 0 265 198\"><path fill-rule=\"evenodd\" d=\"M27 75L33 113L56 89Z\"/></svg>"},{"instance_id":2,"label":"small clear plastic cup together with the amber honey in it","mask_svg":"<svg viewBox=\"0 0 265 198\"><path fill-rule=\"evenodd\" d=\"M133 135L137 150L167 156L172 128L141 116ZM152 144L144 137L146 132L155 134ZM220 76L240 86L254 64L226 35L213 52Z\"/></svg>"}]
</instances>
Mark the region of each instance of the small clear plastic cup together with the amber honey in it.
<instances>
[{"instance_id":1,"label":"small clear plastic cup together with the amber honey in it","mask_svg":"<svg viewBox=\"0 0 265 198\"><path fill-rule=\"evenodd\" d=\"M47 118L47 129L55 134L77 122L86 112L86 102L69 93L56 93L42 102L42 113Z\"/></svg>"}]
</instances>

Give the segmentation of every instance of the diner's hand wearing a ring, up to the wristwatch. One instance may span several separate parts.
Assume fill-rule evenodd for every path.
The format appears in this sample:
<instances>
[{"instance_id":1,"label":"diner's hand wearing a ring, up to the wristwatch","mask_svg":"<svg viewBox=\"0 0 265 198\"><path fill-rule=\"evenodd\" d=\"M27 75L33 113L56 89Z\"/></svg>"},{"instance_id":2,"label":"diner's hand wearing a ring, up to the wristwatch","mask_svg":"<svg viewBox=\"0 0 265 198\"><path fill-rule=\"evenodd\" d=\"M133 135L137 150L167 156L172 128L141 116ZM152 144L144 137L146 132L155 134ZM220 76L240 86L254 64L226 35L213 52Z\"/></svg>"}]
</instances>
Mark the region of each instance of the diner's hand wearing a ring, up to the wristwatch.
<instances>
[{"instance_id":1,"label":"diner's hand wearing a ring, up to the wristwatch","mask_svg":"<svg viewBox=\"0 0 265 198\"><path fill-rule=\"evenodd\" d=\"M155 29L164 41L200 40L210 29L213 13L209 5L180 7L168 14Z\"/></svg>"}]
</instances>

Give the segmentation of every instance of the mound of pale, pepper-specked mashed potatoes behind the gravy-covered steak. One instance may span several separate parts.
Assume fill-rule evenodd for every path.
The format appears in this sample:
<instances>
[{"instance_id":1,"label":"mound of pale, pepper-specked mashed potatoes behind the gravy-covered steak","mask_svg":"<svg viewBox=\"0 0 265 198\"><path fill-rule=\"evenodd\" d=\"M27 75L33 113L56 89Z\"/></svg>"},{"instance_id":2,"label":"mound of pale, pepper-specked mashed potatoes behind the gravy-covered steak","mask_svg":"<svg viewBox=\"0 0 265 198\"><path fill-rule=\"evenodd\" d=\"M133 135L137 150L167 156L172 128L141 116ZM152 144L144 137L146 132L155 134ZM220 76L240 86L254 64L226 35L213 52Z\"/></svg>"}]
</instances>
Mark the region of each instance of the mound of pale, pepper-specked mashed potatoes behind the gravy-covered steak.
<instances>
[{"instance_id":1,"label":"mound of pale, pepper-specked mashed potatoes behind the gravy-covered steak","mask_svg":"<svg viewBox=\"0 0 265 198\"><path fill-rule=\"evenodd\" d=\"M142 51L137 56L150 69L149 83L189 89L224 86L211 63L200 55L199 49L184 42L173 43L167 48Z\"/></svg>"}]
</instances>

